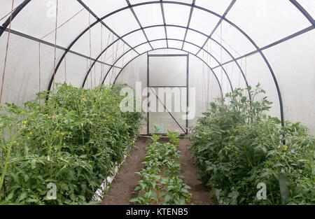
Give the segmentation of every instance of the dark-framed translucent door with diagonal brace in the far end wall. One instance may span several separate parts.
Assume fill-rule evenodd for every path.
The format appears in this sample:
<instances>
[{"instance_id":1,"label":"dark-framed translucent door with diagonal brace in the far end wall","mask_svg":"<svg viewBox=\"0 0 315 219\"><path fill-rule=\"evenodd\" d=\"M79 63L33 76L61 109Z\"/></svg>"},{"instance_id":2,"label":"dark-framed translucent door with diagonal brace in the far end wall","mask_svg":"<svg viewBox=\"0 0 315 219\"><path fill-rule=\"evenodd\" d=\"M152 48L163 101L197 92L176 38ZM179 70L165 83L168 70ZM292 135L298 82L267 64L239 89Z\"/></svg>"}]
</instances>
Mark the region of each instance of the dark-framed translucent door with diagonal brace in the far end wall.
<instances>
[{"instance_id":1,"label":"dark-framed translucent door with diagonal brace in the far end wall","mask_svg":"<svg viewBox=\"0 0 315 219\"><path fill-rule=\"evenodd\" d=\"M167 131L187 134L189 55L148 54L147 77L148 97L152 95L157 108L160 107L147 113L147 134L167 134Z\"/></svg>"}]
</instances>

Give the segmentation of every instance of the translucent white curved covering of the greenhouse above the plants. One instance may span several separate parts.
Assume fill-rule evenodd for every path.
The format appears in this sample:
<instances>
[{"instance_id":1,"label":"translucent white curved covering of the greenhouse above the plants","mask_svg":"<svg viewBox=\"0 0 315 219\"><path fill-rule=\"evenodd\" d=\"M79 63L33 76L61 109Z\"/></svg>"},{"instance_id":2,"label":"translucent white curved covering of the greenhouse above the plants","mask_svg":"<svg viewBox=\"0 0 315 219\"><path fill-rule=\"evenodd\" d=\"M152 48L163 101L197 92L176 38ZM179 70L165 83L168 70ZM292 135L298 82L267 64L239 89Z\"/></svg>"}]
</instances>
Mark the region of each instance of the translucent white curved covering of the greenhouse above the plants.
<instances>
[{"instance_id":1,"label":"translucent white curved covering of the greenhouse above the plants","mask_svg":"<svg viewBox=\"0 0 315 219\"><path fill-rule=\"evenodd\" d=\"M146 52L175 48L190 54L190 85L213 88L211 98L260 83L270 115L315 132L314 17L314 0L2 0L1 104L65 81L146 82Z\"/></svg>"}]
</instances>

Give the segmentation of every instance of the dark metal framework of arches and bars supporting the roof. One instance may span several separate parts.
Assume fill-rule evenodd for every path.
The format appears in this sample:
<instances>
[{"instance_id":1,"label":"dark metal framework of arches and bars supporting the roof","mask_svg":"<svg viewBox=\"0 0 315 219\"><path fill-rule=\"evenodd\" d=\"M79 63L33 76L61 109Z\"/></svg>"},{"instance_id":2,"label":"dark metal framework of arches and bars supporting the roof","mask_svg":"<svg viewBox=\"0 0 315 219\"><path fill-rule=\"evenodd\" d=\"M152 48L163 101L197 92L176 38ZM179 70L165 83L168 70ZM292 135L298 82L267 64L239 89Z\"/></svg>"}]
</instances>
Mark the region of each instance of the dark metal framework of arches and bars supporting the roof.
<instances>
[{"instance_id":1,"label":"dark metal framework of arches and bars supporting the roof","mask_svg":"<svg viewBox=\"0 0 315 219\"><path fill-rule=\"evenodd\" d=\"M34 0L33 0L34 1ZM118 41L123 41L123 43L125 43L125 45L129 46L131 50L134 50L134 52L137 53L137 55L140 55L140 53L134 49L134 46L130 45L129 43L127 43L127 41L125 41L123 39L123 36L120 35L120 34L116 34L116 31L114 31L113 29L111 29L111 27L109 27L107 24L104 23L103 20L105 20L106 18L108 17L111 17L113 15L116 15L117 13L120 13L124 10L128 10L130 9L131 12L132 12L132 15L134 16L134 19L137 20L137 24L139 24L139 27L140 29L137 29L136 31L140 30L143 32L146 40L147 40L147 43L148 45L150 45L151 49L153 50L153 46L151 45L151 41L148 39L148 36L146 36L146 31L145 29L148 28L148 27L144 27L142 24L141 24L141 20L139 20L139 18L137 17L137 11L135 11L135 9L139 8L140 6L149 6L149 5L158 5L160 6L161 8L161 13L162 13L162 24L159 24L160 27L164 27L165 28L165 40L167 41L167 44L168 44L168 40L169 39L172 39L174 40L174 38L168 38L168 35L167 35L167 27L169 27L169 25L172 25L172 24L167 24L167 17L165 16L165 8L164 6L167 6L167 5L178 5L178 6L186 6L188 8L190 8L189 10L189 16L188 16L188 23L187 23L187 26L186 26L186 32L185 32L185 35L184 35L184 38L183 38L183 44L182 44L182 47L181 49L183 49L184 47L184 44L185 43L190 43L192 45L196 45L194 42L190 42L188 40L186 40L186 37L188 35L188 31L194 31L194 28L191 28L190 27L190 22L192 20L192 16L193 16L193 13L194 10L201 10L201 11L204 11L206 13L209 13L211 15L214 15L215 17L218 17L218 22L216 22L216 25L215 27L212 29L211 31L211 34L209 34L209 36L207 37L206 41L204 41L203 45L199 47L199 50L197 51L197 53L195 53L195 55L197 56L201 50L204 50L204 46L207 44L207 41L209 41L209 39L212 41L214 40L216 43L220 44L219 46L225 50L225 52L228 52L228 54L232 57L231 60L227 61L227 62L218 62L218 66L211 66L212 69L214 68L217 68L217 67L221 67L223 69L223 71L226 73L225 69L223 68L224 64L227 64L228 62L235 62L237 64L237 66L239 67L239 69L241 70L242 72L242 69L241 69L241 66L239 66L239 64L237 63L237 60L238 59L241 59L242 57L248 57L249 55L253 55L255 53L259 53L262 57L262 59L264 59L264 62L265 64L267 65L271 75L272 75L272 78L274 80L274 84L276 86L276 91L277 91L277 94L278 94L278 97L279 97L279 104L280 104L280 112L281 112L281 122L282 122L282 125L283 125L283 122L284 122L284 118L283 118L283 103L282 103L282 97L281 97L281 91L280 91L280 87L279 87L279 83L277 81L277 78L275 76L275 73L274 73L274 70L272 69L272 66L269 64L269 61L267 59L267 57L264 55L264 53L262 52L262 50L264 50L265 48L270 48L274 45L277 45L279 43L283 43L284 41L288 41L290 38L295 38L295 36L300 36L300 34L304 34L306 33L307 31L311 31L315 28L315 21L314 21L314 18L311 16L311 14L309 13L309 11L307 11L301 3L299 3L300 1L297 1L297 0L286 0L288 1L289 3L291 3L293 6L295 6L295 9L297 9L307 20L309 23L311 23L311 27L306 27L300 31L297 31L295 32L295 34L291 34L290 36L286 36L284 38L281 38L281 40L279 41L273 41L272 43L269 43L269 45L265 45L265 47L260 47L258 46L257 43L255 43L255 41L253 40L253 38L251 38L249 36L249 34L246 34L246 31L244 31L244 29L241 29L239 26L237 26L237 24L235 24L235 22L232 22L230 21L230 19L227 18L227 15L229 13L230 10L232 10L232 8L235 6L235 4L237 3L237 0L227 0L227 1L222 1L222 4L223 5L227 5L228 7L225 7L225 9L223 10L224 13L217 13L215 12L214 10L211 10L209 8L207 8L207 6L202 6L204 5L204 3L200 3L202 1L144 1L144 2L140 2L138 0L134 0L134 1L123 1L123 0L120 0L120 1L116 1L114 4L116 4L116 6L114 7L116 10L111 10L109 13L107 13L106 15L104 15L103 17L102 16L97 16L96 13L94 13L92 11L92 9L90 9L90 6L89 6L89 3L92 3L93 1L81 1L81 0L77 0L78 3L80 3L81 6L83 6L83 8L87 9L88 12L93 15L96 19L95 22L93 22L92 24L90 24L86 29L84 29L83 32L81 32L70 44L69 46L66 48L66 50L64 50L64 54L62 55L62 57L59 59L59 62L57 62L57 66L55 67L55 69L53 70L53 73L52 73L52 77L50 79L50 84L48 86L48 90L50 90L51 88L51 85L52 85L52 82L55 80L55 74L57 73L57 70L59 69L59 66L60 64L62 63L62 60L64 59L64 57L66 57L66 54L70 51L70 49L72 48L72 46L78 41L78 39L80 39L83 34L85 34L87 31L89 31L92 27L94 27L96 24L98 24L99 22L102 23L104 25L104 27L106 27L106 29L109 29L109 31L111 31L113 33L113 35L115 35L117 38L118 38ZM302 0L301 0L302 1ZM8 17L8 19L6 20L6 22L3 23L1 29L0 29L0 36L3 34L3 31L8 31L8 25L14 20L15 17L17 17L17 15L22 11L24 10L25 6L29 6L29 3L31 2L31 0L25 0L25 1L22 1L22 3L20 3L20 5L18 7L15 8L15 10L13 11L13 13L10 13L11 15ZM105 4L106 4L106 1L104 1ZM281 1L281 2L284 2ZM103 3L104 4L104 3ZM109 4L109 2L107 2L107 4ZM224 7L223 7L224 8ZM221 15L223 14L223 15ZM232 51L230 52L229 49L225 48L224 45L222 45L222 43L219 43L218 40L216 39L213 39L211 38L212 34L214 34L214 32L218 29L218 27L220 27L220 25L223 23L223 22L226 22L227 24L230 24L233 28L237 29L237 31L239 31L243 36L245 36L245 38L247 39L247 41L249 41L253 47L255 48L254 51L252 52L248 52L248 53L245 53L244 55L241 55L239 57L233 57L232 56ZM158 27L157 25L155 25L156 27ZM181 25L177 25L177 26L181 26ZM181 26L183 27L183 26ZM195 31L198 31L197 29L195 29ZM200 31L201 33L202 31ZM160 40L162 40L162 38L160 38ZM179 40L179 39L175 39L175 40ZM167 45L167 48L169 48L169 45ZM127 52L126 52L127 53ZM193 54L193 52L190 52ZM211 52L208 52L211 56ZM124 54L125 55L125 54ZM123 57L123 56L121 56ZM120 58L121 58L120 57ZM119 59L120 59L119 58ZM94 63L98 60L97 59L94 59ZM218 60L217 60L218 61ZM118 60L115 60L113 63L116 63L118 62ZM113 64L111 65L111 68L113 67ZM91 69L91 68L90 68ZM87 71L87 75L88 73L90 72ZM244 73L242 72L243 76L244 76ZM87 75L85 77L87 77ZM228 76L228 74L227 74ZM246 76L244 76L244 80L246 80ZM230 83L230 85L232 86L232 84ZM246 81L246 85L248 85L247 81Z\"/></svg>"}]
</instances>

